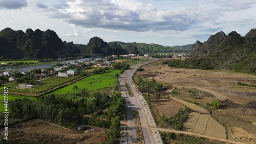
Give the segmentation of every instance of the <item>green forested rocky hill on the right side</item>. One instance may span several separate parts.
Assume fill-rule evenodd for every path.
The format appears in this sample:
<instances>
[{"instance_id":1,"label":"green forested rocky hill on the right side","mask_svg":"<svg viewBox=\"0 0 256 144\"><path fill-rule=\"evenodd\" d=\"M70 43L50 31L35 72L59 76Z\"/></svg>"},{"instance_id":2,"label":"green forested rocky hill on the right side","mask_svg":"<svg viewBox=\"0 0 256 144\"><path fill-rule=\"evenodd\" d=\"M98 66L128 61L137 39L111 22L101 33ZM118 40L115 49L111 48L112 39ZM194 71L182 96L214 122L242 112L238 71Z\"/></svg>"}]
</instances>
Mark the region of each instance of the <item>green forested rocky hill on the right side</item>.
<instances>
[{"instance_id":1,"label":"green forested rocky hill on the right side","mask_svg":"<svg viewBox=\"0 0 256 144\"><path fill-rule=\"evenodd\" d=\"M222 34L223 35L223 34ZM235 31L216 42L220 33L212 35L203 44L197 42L191 48L191 55L200 58L169 61L170 67L193 69L224 69L256 74L256 29L250 30L244 37ZM204 47L204 44L211 47ZM212 46L215 45L215 46Z\"/></svg>"}]
</instances>

